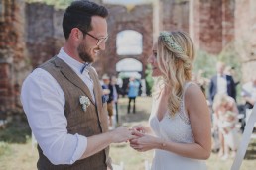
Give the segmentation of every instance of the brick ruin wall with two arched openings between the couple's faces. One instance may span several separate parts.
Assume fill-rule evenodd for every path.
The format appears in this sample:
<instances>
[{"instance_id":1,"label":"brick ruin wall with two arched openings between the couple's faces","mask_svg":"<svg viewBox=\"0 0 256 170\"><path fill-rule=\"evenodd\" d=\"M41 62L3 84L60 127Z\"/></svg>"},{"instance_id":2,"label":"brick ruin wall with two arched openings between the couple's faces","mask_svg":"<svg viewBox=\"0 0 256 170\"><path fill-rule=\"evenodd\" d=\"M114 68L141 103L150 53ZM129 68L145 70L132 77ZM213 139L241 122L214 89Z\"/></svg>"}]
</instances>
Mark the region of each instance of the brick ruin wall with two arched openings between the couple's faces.
<instances>
[{"instance_id":1,"label":"brick ruin wall with two arched openings between the couple's faces","mask_svg":"<svg viewBox=\"0 0 256 170\"><path fill-rule=\"evenodd\" d=\"M131 11L120 5L106 5L109 9L108 35L106 50L101 52L98 61L94 64L99 73L116 75L116 63L125 58L134 58L143 65L143 71L147 65L147 56L152 48L152 7L150 5L135 6ZM133 30L142 34L143 49L140 55L118 55L116 53L116 36L124 30ZM142 75L143 76L143 75Z\"/></svg>"}]
</instances>

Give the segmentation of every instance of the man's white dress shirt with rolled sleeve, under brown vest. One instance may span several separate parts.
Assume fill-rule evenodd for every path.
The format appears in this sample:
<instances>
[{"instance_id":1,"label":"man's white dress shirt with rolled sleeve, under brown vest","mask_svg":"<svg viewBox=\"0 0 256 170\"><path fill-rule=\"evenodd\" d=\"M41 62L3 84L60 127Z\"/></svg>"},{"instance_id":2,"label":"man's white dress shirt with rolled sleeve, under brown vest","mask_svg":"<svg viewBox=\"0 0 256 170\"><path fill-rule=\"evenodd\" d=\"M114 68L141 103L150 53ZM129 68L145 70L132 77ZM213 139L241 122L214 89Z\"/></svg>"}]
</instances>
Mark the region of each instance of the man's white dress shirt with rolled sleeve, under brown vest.
<instances>
[{"instance_id":1,"label":"man's white dress shirt with rolled sleeve, under brown vest","mask_svg":"<svg viewBox=\"0 0 256 170\"><path fill-rule=\"evenodd\" d=\"M63 48L58 57L83 80L95 101L88 71L80 73L83 64L68 56ZM44 155L53 164L73 164L81 158L87 148L87 138L67 133L64 92L49 72L37 68L26 78L21 90L21 102Z\"/></svg>"}]
</instances>

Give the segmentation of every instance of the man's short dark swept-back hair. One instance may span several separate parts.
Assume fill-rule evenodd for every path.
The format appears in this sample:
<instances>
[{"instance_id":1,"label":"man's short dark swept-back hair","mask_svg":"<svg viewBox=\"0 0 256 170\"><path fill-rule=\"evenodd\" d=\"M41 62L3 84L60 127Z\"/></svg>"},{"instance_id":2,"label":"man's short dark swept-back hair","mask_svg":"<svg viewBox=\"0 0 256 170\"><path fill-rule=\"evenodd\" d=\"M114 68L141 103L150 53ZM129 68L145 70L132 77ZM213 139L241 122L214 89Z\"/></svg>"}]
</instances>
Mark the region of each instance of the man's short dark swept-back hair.
<instances>
[{"instance_id":1,"label":"man's short dark swept-back hair","mask_svg":"<svg viewBox=\"0 0 256 170\"><path fill-rule=\"evenodd\" d=\"M92 30L91 17L100 16L106 18L108 11L104 6L87 0L73 1L64 12L63 31L64 38L68 39L73 28L78 28L82 32Z\"/></svg>"}]
</instances>

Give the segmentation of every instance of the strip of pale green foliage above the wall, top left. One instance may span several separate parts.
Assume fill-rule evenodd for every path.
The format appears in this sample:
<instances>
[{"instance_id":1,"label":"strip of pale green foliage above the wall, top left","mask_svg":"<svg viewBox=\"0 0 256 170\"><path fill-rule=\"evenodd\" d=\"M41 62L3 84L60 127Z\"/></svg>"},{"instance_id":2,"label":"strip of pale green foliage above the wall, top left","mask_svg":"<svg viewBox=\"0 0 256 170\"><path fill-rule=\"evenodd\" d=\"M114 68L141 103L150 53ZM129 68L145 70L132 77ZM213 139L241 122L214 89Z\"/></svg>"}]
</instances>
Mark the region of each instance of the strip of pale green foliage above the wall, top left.
<instances>
[{"instance_id":1,"label":"strip of pale green foliage above the wall, top left","mask_svg":"<svg viewBox=\"0 0 256 170\"><path fill-rule=\"evenodd\" d=\"M26 2L41 2L47 5L53 5L56 9L65 9L72 2L72 0L26 0Z\"/></svg>"}]
</instances>

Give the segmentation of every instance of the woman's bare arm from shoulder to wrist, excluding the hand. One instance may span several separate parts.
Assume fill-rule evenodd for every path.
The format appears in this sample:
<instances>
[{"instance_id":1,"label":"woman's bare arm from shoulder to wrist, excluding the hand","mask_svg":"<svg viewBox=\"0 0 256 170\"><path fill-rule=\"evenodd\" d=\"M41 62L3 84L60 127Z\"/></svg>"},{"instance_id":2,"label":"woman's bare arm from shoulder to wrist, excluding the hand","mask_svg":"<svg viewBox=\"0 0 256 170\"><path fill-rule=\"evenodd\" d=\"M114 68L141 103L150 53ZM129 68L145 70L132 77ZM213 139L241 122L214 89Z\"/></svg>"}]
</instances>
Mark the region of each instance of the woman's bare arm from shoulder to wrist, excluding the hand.
<instances>
[{"instance_id":1,"label":"woman's bare arm from shoulder to wrist, excluding the hand","mask_svg":"<svg viewBox=\"0 0 256 170\"><path fill-rule=\"evenodd\" d=\"M185 107L189 114L194 143L183 144L160 141L160 149L185 157L207 159L211 152L210 113L205 97L198 86L191 85L186 90Z\"/></svg>"}]
</instances>

